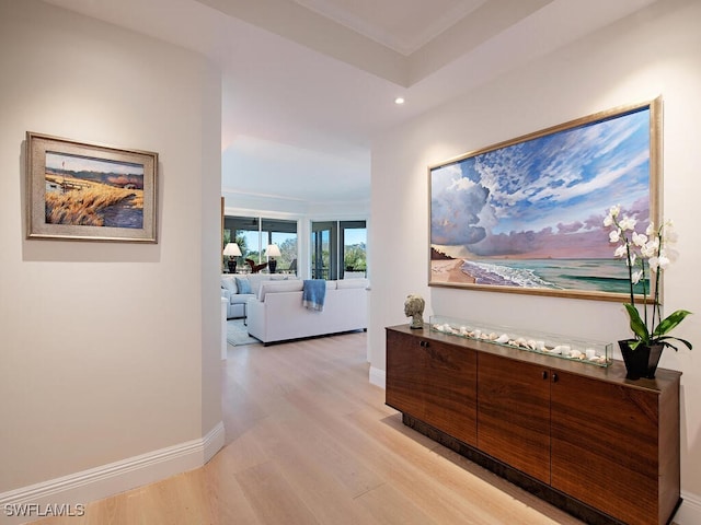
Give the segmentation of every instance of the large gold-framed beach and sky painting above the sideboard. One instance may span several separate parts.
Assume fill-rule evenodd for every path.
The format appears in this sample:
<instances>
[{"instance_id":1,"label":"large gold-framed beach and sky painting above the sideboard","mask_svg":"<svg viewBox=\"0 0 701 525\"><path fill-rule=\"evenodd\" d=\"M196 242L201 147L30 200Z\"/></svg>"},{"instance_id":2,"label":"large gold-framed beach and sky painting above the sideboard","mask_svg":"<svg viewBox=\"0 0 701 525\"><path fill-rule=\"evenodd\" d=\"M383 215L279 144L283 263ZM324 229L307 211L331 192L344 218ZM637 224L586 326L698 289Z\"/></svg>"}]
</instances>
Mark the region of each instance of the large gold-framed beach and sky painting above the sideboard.
<instances>
[{"instance_id":1,"label":"large gold-framed beach and sky painting above the sideboard","mask_svg":"<svg viewBox=\"0 0 701 525\"><path fill-rule=\"evenodd\" d=\"M630 299L604 218L659 223L660 150L656 98L429 166L428 284Z\"/></svg>"}]
</instances>

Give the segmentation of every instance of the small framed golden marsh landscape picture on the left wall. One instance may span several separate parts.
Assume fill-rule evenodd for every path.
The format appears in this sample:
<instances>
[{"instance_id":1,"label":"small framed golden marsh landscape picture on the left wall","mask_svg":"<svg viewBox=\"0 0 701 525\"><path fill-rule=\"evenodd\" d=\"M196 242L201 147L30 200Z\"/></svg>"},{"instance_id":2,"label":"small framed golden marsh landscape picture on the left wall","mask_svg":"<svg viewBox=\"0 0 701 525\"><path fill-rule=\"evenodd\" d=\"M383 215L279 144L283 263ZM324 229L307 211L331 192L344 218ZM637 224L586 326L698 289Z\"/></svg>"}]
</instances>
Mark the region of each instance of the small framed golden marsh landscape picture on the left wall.
<instances>
[{"instance_id":1,"label":"small framed golden marsh landscape picture on the left wall","mask_svg":"<svg viewBox=\"0 0 701 525\"><path fill-rule=\"evenodd\" d=\"M157 242L158 153L26 133L27 238Z\"/></svg>"}]
</instances>

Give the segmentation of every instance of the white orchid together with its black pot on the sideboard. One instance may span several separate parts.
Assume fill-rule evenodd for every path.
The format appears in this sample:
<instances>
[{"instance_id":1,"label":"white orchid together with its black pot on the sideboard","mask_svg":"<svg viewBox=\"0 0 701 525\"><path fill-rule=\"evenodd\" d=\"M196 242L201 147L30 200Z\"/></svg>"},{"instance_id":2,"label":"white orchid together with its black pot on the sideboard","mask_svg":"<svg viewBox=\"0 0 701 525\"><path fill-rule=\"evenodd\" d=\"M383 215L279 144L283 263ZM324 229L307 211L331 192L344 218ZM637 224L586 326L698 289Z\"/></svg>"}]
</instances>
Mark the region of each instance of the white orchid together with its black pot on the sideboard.
<instances>
[{"instance_id":1,"label":"white orchid together with its black pot on the sideboard","mask_svg":"<svg viewBox=\"0 0 701 525\"><path fill-rule=\"evenodd\" d=\"M654 223L651 222L644 234L635 232L635 219L631 217L621 217L620 206L613 206L604 219L604 225L612 229L609 233L609 242L618 244L613 255L624 259L628 266L631 301L624 306L630 318L631 330L635 337L619 341L619 347L625 362L627 377L630 380L655 377L657 363L665 347L677 350L671 341L679 341L686 345L689 350L692 348L689 341L668 335L691 312L677 310L664 319L662 318L660 277L676 255L671 248L676 242L673 223L666 221L655 229ZM652 296L648 301L647 285L648 282L653 282L653 275L654 288L650 291ZM635 305L635 287L643 295L642 316Z\"/></svg>"}]
</instances>

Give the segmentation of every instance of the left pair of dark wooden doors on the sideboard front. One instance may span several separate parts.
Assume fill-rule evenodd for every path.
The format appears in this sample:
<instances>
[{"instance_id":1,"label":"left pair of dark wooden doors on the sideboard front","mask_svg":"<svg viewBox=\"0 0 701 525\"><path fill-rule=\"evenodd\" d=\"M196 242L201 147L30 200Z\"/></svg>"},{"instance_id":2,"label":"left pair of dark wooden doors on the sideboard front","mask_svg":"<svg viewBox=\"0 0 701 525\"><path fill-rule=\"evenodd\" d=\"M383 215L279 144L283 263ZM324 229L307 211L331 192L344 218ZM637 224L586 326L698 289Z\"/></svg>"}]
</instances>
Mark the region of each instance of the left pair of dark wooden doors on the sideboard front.
<instances>
[{"instance_id":1,"label":"left pair of dark wooden doors on the sideboard front","mask_svg":"<svg viewBox=\"0 0 701 525\"><path fill-rule=\"evenodd\" d=\"M476 353L392 330L387 332L387 404L476 444Z\"/></svg>"}]
</instances>

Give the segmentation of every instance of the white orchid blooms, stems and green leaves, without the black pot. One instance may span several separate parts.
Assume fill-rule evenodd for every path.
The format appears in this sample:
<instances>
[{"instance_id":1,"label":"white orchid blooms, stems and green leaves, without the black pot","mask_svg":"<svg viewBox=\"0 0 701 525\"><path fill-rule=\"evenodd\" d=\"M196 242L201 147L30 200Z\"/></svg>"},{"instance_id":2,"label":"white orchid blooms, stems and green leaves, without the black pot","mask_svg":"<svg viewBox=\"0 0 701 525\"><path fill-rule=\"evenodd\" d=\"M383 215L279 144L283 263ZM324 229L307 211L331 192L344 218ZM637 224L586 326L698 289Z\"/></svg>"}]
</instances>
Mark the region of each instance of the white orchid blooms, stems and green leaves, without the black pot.
<instances>
[{"instance_id":1,"label":"white orchid blooms, stems and green leaves, without the black pot","mask_svg":"<svg viewBox=\"0 0 701 525\"><path fill-rule=\"evenodd\" d=\"M667 335L691 312L677 310L663 319L662 305L659 304L662 272L667 269L676 257L673 246L677 236L673 222L666 221L657 229L651 222L645 233L635 232L635 224L636 221L632 217L621 215L620 206L611 207L608 215L604 219L604 225L612 229L609 233L609 242L618 243L618 247L613 253L614 257L625 259L628 266L631 302L624 304L624 306L630 317L631 330L635 335L635 340L631 342L630 348L634 350L640 345L663 345L677 350L677 347L669 342L670 340L676 340L691 350L692 346L689 341ZM655 285L651 290L651 293L653 293L651 298L652 313L648 315L647 282L652 281L652 279L648 281L648 277L652 278L653 275ZM635 285L642 285L643 317L641 317L635 306L635 294L633 292Z\"/></svg>"}]
</instances>

